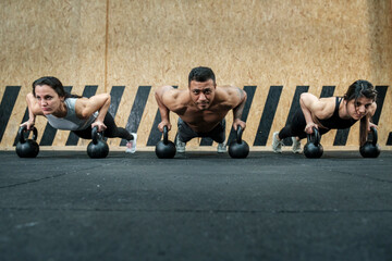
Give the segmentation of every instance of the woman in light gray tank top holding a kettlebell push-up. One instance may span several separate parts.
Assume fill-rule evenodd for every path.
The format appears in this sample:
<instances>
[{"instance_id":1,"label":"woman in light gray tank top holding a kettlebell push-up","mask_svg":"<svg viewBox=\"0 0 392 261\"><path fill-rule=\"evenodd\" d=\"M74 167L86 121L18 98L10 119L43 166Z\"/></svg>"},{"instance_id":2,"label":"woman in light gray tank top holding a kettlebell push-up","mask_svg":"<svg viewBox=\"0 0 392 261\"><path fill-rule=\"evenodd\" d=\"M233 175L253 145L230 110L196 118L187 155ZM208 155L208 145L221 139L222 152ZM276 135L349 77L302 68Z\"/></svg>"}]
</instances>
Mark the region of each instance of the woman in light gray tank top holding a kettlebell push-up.
<instances>
[{"instance_id":1,"label":"woman in light gray tank top holding a kettlebell push-up","mask_svg":"<svg viewBox=\"0 0 392 261\"><path fill-rule=\"evenodd\" d=\"M29 119L21 126L27 129L34 126L37 115L42 115L53 128L72 130L84 139L91 139L91 128L97 126L98 132L105 130L106 137L126 139L126 152L136 151L137 135L118 127L108 113L109 94L90 98L70 95L58 78L45 76L33 83L33 91L27 94L26 101Z\"/></svg>"}]
</instances>

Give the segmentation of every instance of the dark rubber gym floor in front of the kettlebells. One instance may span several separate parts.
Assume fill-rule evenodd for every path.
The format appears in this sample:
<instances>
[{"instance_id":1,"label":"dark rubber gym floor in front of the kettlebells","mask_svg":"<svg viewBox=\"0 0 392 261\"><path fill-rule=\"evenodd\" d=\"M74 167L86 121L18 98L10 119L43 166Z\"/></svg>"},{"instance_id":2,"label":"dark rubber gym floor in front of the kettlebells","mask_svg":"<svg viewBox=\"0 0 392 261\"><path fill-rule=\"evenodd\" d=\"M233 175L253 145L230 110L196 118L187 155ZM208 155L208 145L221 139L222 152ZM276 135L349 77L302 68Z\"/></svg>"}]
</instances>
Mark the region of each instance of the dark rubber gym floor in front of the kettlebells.
<instances>
[{"instance_id":1,"label":"dark rubber gym floor in front of the kettlebells","mask_svg":"<svg viewBox=\"0 0 392 261\"><path fill-rule=\"evenodd\" d=\"M0 260L392 260L392 151L0 152Z\"/></svg>"}]
</instances>

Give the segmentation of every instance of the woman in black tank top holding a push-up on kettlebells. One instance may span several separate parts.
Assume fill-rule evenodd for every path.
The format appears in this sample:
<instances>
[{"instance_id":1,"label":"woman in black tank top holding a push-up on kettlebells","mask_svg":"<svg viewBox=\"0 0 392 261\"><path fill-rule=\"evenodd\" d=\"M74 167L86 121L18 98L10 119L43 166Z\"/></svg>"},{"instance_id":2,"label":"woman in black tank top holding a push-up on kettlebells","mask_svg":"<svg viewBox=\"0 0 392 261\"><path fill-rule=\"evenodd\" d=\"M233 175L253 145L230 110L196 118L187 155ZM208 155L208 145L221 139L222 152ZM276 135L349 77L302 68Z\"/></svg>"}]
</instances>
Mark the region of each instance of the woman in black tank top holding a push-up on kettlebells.
<instances>
[{"instance_id":1,"label":"woman in black tank top holding a push-up on kettlebells","mask_svg":"<svg viewBox=\"0 0 392 261\"><path fill-rule=\"evenodd\" d=\"M304 92L301 95L301 109L294 114L291 122L280 132L273 133L272 150L282 152L283 139L291 137L293 152L301 153L299 140L313 134L316 127L320 135L332 128L348 128L360 120L359 145L364 145L370 132L370 127L377 127L371 123L376 112L377 91L367 80L354 82L343 97L317 98Z\"/></svg>"}]
</instances>

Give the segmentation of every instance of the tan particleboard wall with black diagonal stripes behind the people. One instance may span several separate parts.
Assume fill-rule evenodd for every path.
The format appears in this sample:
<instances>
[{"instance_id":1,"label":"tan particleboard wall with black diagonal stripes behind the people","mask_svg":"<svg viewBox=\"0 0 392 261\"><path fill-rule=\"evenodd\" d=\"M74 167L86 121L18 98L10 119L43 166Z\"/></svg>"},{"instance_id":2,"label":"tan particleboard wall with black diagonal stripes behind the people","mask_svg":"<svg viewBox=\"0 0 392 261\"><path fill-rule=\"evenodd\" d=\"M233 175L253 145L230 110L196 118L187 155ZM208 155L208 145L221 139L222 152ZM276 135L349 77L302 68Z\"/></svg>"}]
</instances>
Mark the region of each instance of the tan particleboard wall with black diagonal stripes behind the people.
<instances>
[{"instance_id":1,"label":"tan particleboard wall with black diagonal stripes behind the people","mask_svg":"<svg viewBox=\"0 0 392 261\"><path fill-rule=\"evenodd\" d=\"M33 80L52 75L86 97L108 92L119 126L139 150L160 140L154 91L187 88L192 67L210 66L218 85L243 88L243 138L269 150L272 133L298 108L299 95L343 96L356 79L377 88L379 144L392 149L392 1L4 0L0 1L0 149L14 149L28 116ZM176 115L171 114L176 132ZM233 137L232 114L226 136ZM85 149L87 140L38 117L41 149ZM322 137L326 149L357 149L358 124ZM287 142L287 145L290 141ZM111 139L111 150L124 141ZM200 138L188 149L212 150Z\"/></svg>"}]
</instances>

